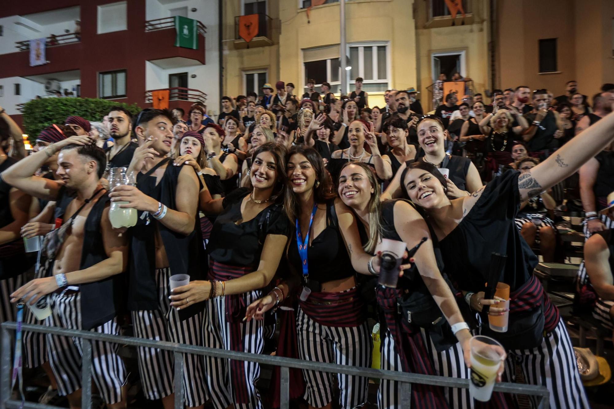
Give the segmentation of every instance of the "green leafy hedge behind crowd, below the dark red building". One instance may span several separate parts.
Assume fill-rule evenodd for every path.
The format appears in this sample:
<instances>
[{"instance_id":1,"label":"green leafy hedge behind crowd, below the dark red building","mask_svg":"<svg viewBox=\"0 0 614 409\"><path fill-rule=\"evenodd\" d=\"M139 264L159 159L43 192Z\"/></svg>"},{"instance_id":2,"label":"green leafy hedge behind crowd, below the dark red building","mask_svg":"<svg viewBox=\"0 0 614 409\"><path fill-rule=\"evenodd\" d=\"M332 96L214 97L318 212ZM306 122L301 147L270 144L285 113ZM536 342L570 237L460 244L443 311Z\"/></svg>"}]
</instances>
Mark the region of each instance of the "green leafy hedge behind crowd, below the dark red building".
<instances>
[{"instance_id":1,"label":"green leafy hedge behind crowd, below the dark red building","mask_svg":"<svg viewBox=\"0 0 614 409\"><path fill-rule=\"evenodd\" d=\"M128 105L94 98L42 98L33 99L23 106L23 128L34 142L36 136L52 123L64 125L64 120L71 115L84 117L90 121L101 121L113 106L123 106L133 114L141 108L136 104Z\"/></svg>"}]
</instances>

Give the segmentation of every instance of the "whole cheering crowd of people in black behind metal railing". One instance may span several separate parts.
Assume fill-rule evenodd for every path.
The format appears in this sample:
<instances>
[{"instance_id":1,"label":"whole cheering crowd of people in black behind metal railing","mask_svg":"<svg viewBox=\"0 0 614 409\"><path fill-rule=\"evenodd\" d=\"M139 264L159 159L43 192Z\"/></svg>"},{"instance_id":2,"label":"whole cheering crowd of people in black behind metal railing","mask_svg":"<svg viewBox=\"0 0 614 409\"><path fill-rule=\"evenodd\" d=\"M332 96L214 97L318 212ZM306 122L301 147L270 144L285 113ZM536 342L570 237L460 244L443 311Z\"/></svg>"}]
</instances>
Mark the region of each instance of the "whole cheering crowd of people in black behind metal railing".
<instances>
[{"instance_id":1,"label":"whole cheering crowd of people in black behind metal railing","mask_svg":"<svg viewBox=\"0 0 614 409\"><path fill-rule=\"evenodd\" d=\"M51 315L28 311L26 322L255 354L273 340L279 356L370 367L375 317L383 369L469 378L468 340L482 333L507 350L499 380L546 386L553 408L588 408L565 324L533 275L534 250L554 259L552 211L579 171L586 235L599 235L578 289L611 329L614 85L592 109L571 81L557 98L523 85L495 90L491 104L468 93L457 105L450 94L424 115L413 88L369 107L360 78L341 98L307 84L301 98L282 81L262 96L224 96L217 118L195 103L187 117L117 106L101 122L58 119L29 155L0 109L2 321L15 320L20 300L45 299ZM44 236L36 271L22 236ZM427 238L395 288L375 277L384 238L408 248ZM498 281L511 287L508 310L485 297L492 253L507 255ZM190 281L171 290L174 275ZM482 324L505 313L507 333ZM126 407L118 349L92 343L110 408ZM45 368L71 408L81 354L79 339L25 333L24 365ZM187 407L270 404L255 362L184 362ZM146 398L173 407L172 351L138 348L138 364ZM361 376L303 370L299 384L292 397L313 408L336 395L342 408L368 399ZM379 407L400 407L399 394L381 381ZM414 385L411 404L473 407L467 389L445 386ZM518 402L494 393L486 405Z\"/></svg>"}]
</instances>

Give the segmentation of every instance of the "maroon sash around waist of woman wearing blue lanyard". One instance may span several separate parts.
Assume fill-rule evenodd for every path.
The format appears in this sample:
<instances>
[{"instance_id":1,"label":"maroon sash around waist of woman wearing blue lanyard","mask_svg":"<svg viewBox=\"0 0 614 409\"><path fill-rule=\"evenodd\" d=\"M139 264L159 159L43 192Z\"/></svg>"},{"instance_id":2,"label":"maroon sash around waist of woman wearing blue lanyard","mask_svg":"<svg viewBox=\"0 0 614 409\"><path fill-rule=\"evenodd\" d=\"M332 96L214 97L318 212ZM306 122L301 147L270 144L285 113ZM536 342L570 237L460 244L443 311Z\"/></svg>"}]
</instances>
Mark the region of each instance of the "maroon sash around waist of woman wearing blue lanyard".
<instances>
[{"instance_id":1,"label":"maroon sash around waist of woman wearing blue lanyard","mask_svg":"<svg viewBox=\"0 0 614 409\"><path fill-rule=\"evenodd\" d=\"M309 318L327 327L358 327L367 320L367 305L357 287L344 292L312 292L306 302L298 303Z\"/></svg>"}]
</instances>

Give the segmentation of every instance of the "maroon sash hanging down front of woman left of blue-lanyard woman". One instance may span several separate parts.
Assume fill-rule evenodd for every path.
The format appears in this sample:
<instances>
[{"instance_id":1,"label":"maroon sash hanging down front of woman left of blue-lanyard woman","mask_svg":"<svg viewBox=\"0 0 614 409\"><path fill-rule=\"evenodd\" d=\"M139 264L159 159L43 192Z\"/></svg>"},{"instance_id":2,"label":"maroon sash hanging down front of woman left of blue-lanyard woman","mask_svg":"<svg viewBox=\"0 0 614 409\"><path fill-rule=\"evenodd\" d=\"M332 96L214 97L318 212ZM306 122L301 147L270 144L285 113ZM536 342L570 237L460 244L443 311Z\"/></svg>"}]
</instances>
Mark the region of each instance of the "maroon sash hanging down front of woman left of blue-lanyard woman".
<instances>
[{"instance_id":1,"label":"maroon sash hanging down front of woman left of blue-lanyard woman","mask_svg":"<svg viewBox=\"0 0 614 409\"><path fill-rule=\"evenodd\" d=\"M228 281L239 278L254 271L252 267L242 267L218 263L211 259L209 278L219 281ZM243 317L247 306L243 294L225 295L226 321L230 324L230 350L245 352L243 348ZM235 394L235 403L249 403L249 391L245 383L246 373L243 361L230 360L230 380Z\"/></svg>"}]
</instances>

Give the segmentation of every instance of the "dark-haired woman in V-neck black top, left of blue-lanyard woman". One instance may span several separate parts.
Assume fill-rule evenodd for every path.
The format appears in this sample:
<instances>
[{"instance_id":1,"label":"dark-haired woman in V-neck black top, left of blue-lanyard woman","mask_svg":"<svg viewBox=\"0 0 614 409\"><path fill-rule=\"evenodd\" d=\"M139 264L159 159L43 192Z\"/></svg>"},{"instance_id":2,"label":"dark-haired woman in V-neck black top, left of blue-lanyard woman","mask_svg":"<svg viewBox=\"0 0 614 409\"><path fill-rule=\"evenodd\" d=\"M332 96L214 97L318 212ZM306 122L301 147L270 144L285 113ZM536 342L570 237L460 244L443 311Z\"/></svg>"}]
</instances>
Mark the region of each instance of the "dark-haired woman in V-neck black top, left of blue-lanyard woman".
<instances>
[{"instance_id":1,"label":"dark-haired woman in V-neck black top, left of blue-lanyard woman","mask_svg":"<svg viewBox=\"0 0 614 409\"><path fill-rule=\"evenodd\" d=\"M245 308L262 297L279 266L290 225L282 209L286 189L286 150L274 143L254 152L252 189L234 190L209 201L206 214L219 214L207 251L209 281L191 281L174 289L171 305L184 309L206 300L204 346L262 353L261 321L244 322ZM206 357L206 376L214 405L261 408L254 362Z\"/></svg>"}]
</instances>

